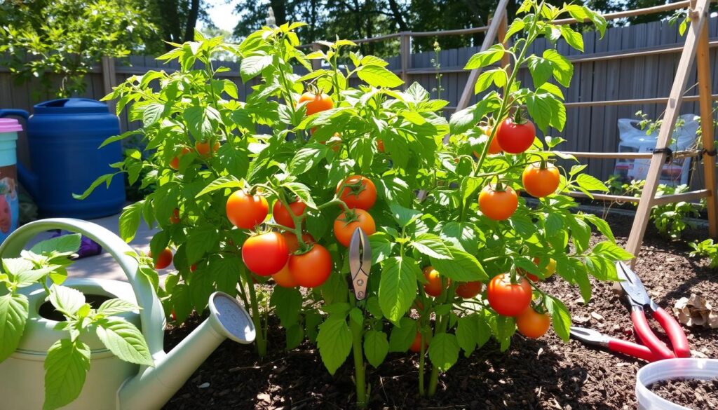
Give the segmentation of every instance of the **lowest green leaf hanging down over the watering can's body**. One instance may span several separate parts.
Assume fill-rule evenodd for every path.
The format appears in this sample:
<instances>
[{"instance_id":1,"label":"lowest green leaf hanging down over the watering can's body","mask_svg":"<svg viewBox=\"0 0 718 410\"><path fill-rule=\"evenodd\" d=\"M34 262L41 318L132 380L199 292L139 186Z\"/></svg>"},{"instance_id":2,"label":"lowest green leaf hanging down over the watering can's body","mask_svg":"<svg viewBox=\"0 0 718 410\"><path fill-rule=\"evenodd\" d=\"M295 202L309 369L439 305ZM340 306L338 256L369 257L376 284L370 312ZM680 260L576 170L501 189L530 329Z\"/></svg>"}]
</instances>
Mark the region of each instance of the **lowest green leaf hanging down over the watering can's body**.
<instances>
[{"instance_id":1,"label":"lowest green leaf hanging down over the watering can's body","mask_svg":"<svg viewBox=\"0 0 718 410\"><path fill-rule=\"evenodd\" d=\"M43 410L59 409L80 396L90 370L90 347L80 340L60 339L45 357Z\"/></svg>"}]
</instances>

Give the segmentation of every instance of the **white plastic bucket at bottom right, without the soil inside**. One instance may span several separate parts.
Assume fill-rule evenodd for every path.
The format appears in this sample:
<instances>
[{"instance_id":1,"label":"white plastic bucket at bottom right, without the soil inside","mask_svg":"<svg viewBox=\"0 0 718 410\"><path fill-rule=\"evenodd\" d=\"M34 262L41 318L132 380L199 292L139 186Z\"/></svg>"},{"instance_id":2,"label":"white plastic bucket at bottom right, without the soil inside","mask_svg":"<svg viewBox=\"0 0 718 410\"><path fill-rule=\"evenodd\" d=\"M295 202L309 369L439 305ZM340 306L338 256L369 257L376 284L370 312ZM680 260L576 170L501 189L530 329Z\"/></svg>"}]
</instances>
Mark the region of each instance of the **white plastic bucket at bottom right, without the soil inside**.
<instances>
[{"instance_id":1,"label":"white plastic bucket at bottom right, without the soil inside","mask_svg":"<svg viewBox=\"0 0 718 410\"><path fill-rule=\"evenodd\" d=\"M635 377L635 396L639 410L691 410L679 406L648 389L653 383L676 378L708 380L718 378L718 359L668 359L643 366Z\"/></svg>"}]
</instances>

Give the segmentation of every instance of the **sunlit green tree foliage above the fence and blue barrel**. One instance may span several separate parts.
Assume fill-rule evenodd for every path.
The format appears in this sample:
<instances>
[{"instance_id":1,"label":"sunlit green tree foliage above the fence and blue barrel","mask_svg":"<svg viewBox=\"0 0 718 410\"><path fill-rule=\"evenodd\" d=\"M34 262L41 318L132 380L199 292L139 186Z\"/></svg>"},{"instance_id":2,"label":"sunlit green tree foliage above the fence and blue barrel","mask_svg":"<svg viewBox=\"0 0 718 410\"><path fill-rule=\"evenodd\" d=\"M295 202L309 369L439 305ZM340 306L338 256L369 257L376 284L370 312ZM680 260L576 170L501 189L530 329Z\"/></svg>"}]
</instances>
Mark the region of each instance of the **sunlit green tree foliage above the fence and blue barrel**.
<instances>
[{"instance_id":1,"label":"sunlit green tree foliage above the fence and blue barrel","mask_svg":"<svg viewBox=\"0 0 718 410\"><path fill-rule=\"evenodd\" d=\"M0 64L18 82L39 80L34 99L82 95L101 57L141 52L156 30L137 2L10 0L0 6Z\"/></svg>"}]
</instances>

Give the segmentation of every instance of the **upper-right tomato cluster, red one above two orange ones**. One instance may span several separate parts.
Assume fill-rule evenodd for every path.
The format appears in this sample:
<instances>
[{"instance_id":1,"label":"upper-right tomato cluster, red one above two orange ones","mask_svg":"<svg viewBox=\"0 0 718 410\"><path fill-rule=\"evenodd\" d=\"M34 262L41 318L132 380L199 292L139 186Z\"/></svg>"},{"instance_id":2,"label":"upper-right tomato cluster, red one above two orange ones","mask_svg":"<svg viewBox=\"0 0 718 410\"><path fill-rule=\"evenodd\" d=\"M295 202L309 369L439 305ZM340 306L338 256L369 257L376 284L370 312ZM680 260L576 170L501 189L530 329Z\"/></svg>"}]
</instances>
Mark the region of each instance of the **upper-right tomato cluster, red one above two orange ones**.
<instances>
[{"instance_id":1,"label":"upper-right tomato cluster, red one above two orange ones","mask_svg":"<svg viewBox=\"0 0 718 410\"><path fill-rule=\"evenodd\" d=\"M484 131L487 135L491 134L490 129ZM501 152L521 154L531 147L535 138L536 127L531 121L516 122L513 118L506 118L496 129L495 136L488 147L488 154ZM544 160L528 164L521 175L523 189L537 198L556 192L560 181L559 169ZM508 185L500 182L486 185L479 193L479 210L489 219L506 220L516 212L516 208L518 208L518 194Z\"/></svg>"}]
</instances>

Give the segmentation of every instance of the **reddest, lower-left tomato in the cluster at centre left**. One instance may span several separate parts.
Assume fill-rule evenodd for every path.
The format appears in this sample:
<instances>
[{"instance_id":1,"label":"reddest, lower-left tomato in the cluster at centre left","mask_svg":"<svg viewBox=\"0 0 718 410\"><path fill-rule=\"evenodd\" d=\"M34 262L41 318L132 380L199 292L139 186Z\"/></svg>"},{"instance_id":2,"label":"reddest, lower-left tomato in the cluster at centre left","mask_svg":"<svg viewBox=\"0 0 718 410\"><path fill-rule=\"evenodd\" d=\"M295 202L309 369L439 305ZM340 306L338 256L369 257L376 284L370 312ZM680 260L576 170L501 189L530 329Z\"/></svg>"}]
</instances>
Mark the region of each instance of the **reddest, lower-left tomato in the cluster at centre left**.
<instances>
[{"instance_id":1,"label":"reddest, lower-left tomato in the cluster at centre left","mask_svg":"<svg viewBox=\"0 0 718 410\"><path fill-rule=\"evenodd\" d=\"M259 276L279 272L289 258L284 236L276 232L250 236L242 246L242 261L247 268Z\"/></svg>"}]
</instances>

